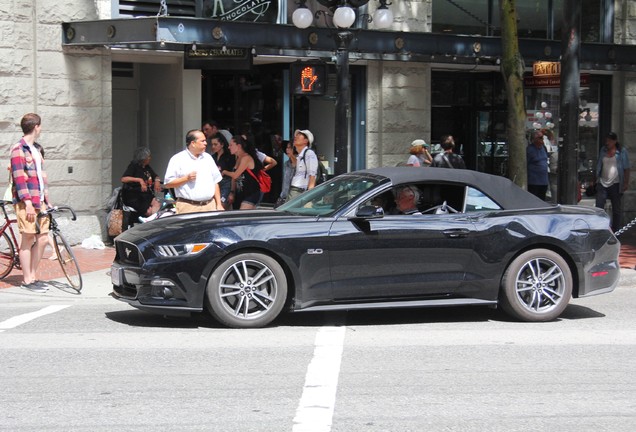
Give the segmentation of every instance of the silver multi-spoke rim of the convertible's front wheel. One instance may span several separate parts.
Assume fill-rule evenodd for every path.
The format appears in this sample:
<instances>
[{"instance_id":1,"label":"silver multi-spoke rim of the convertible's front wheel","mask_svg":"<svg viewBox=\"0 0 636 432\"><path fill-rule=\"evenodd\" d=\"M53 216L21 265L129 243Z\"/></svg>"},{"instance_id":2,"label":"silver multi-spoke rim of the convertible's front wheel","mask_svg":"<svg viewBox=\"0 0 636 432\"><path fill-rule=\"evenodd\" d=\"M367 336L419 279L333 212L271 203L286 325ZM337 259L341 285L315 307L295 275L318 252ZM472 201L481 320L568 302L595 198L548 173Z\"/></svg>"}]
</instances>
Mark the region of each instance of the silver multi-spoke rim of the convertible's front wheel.
<instances>
[{"instance_id":1,"label":"silver multi-spoke rim of the convertible's front wheel","mask_svg":"<svg viewBox=\"0 0 636 432\"><path fill-rule=\"evenodd\" d=\"M274 305L278 283L272 270L256 260L232 264L221 277L221 304L233 316L245 320L265 315Z\"/></svg>"}]
</instances>

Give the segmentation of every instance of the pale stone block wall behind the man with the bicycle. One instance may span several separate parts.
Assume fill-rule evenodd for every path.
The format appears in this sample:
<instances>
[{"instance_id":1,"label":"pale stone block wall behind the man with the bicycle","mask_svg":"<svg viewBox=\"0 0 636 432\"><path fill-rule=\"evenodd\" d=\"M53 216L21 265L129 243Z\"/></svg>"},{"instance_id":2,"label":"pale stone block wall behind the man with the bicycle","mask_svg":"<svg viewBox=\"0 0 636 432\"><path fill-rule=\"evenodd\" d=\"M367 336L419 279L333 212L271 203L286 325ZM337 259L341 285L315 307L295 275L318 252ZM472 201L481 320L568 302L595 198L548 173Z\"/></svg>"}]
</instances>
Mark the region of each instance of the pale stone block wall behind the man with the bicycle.
<instances>
[{"instance_id":1,"label":"pale stone block wall behind the man with the bicycle","mask_svg":"<svg viewBox=\"0 0 636 432\"><path fill-rule=\"evenodd\" d=\"M64 52L60 24L98 18L92 0L0 4L0 160L8 164L22 116L38 113L51 200L80 213L65 229L73 243L102 232L99 216L112 189L111 62L103 49Z\"/></svg>"}]
</instances>

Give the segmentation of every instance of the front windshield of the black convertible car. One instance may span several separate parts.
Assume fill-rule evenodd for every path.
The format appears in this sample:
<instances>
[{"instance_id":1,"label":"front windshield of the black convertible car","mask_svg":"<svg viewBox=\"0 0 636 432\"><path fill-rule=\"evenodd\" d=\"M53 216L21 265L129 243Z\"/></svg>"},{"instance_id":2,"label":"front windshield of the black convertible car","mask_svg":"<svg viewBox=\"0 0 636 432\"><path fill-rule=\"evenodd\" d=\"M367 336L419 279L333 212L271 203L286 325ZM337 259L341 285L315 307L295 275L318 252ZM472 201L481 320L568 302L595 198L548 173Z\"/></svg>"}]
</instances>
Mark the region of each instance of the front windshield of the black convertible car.
<instances>
[{"instance_id":1,"label":"front windshield of the black convertible car","mask_svg":"<svg viewBox=\"0 0 636 432\"><path fill-rule=\"evenodd\" d=\"M380 181L378 178L338 176L304 192L277 210L307 216L328 216Z\"/></svg>"}]
</instances>

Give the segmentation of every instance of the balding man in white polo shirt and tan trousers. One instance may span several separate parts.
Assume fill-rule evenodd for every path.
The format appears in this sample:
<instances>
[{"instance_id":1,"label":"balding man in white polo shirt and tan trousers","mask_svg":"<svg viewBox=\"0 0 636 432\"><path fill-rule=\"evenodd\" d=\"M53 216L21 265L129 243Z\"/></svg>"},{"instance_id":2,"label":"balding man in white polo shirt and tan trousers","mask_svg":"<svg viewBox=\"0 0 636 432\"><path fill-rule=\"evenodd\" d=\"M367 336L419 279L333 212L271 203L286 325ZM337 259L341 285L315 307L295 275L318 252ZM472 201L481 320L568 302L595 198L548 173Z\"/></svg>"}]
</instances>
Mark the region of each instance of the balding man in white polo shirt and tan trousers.
<instances>
[{"instance_id":1,"label":"balding man in white polo shirt and tan trousers","mask_svg":"<svg viewBox=\"0 0 636 432\"><path fill-rule=\"evenodd\" d=\"M168 162L164 187L175 190L177 214L223 210L221 173L206 146L203 132L193 129L186 134L186 149Z\"/></svg>"}]
</instances>

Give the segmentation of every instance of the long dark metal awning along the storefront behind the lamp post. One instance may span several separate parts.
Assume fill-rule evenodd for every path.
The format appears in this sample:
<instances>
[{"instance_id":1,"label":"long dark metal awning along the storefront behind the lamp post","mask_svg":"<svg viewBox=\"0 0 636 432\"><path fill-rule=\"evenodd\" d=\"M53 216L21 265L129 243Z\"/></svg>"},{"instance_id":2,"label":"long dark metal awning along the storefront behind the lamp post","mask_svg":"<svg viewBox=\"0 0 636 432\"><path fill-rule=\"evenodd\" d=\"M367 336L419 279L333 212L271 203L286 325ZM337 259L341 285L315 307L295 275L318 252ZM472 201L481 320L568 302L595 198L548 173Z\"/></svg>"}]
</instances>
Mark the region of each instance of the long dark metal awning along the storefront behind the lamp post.
<instances>
[{"instance_id":1,"label":"long dark metal awning along the storefront behind the lamp post","mask_svg":"<svg viewBox=\"0 0 636 432\"><path fill-rule=\"evenodd\" d=\"M250 48L258 55L289 57L330 56L337 47L332 28L298 29L289 24L218 21L190 17L143 17L62 24L63 46L121 47L179 50L197 46ZM440 35L352 29L352 58L432 63L496 64L501 58L499 37ZM520 39L527 65L539 60L558 61L561 42ZM584 70L635 71L636 46L581 44Z\"/></svg>"}]
</instances>

